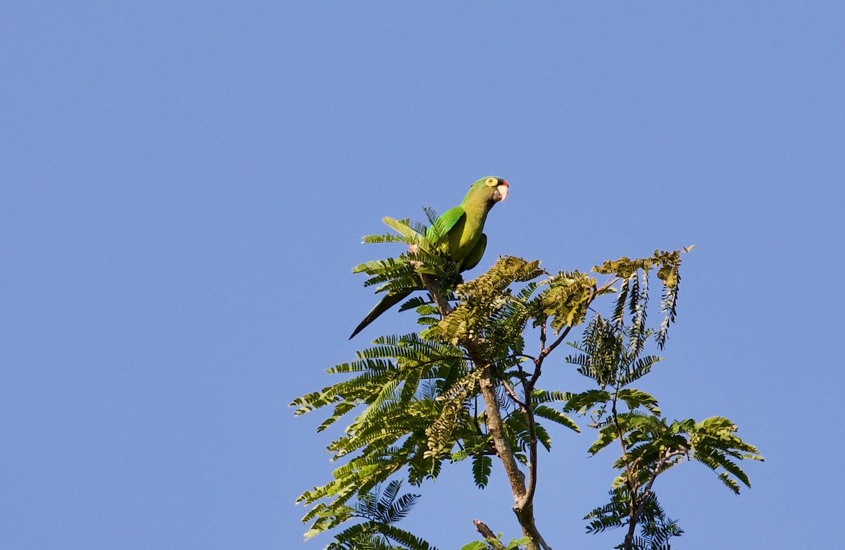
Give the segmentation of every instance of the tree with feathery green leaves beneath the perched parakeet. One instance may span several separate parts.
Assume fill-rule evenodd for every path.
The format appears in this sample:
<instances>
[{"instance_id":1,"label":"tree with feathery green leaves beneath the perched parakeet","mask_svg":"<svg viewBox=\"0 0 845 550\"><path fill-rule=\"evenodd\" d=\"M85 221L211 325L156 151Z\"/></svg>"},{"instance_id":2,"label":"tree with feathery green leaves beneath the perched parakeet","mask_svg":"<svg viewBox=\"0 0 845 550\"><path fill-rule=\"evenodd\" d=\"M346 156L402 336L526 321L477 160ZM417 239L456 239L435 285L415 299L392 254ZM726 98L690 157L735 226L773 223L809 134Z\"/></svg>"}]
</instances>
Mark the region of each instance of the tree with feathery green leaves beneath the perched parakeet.
<instances>
[{"instance_id":1,"label":"tree with feathery green leaves beneath the perched parakeet","mask_svg":"<svg viewBox=\"0 0 845 550\"><path fill-rule=\"evenodd\" d=\"M432 210L427 215L429 223L436 219ZM428 295L411 297L401 311L415 309L424 329L377 338L354 361L329 369L346 375L343 381L293 401L297 415L332 407L318 431L354 417L329 445L332 460L345 463L334 479L297 500L312 507L303 518L311 524L306 538L359 520L327 548L433 548L393 525L417 498L398 497L397 479L421 486L436 479L444 464L471 460L480 488L487 486L494 462L504 469L522 538L501 542L477 520L483 541L462 550L548 550L534 520L541 481L538 449L551 449L548 422L580 432L573 417L589 419L586 427L597 431L591 454L618 445L613 467L619 475L609 502L585 516L589 532L621 528L624 540L618 548L668 549L668 540L683 533L653 490L657 476L673 466L696 460L734 493L739 483L750 487L738 462L763 459L737 437L733 422L723 417L670 422L655 397L632 386L661 361L646 349L666 344L676 316L681 254L691 247L605 262L592 270L606 277L601 284L588 273L551 274L539 261L511 256L463 282L442 248L423 237L426 226L408 220L390 220L389 225L399 234L364 241L401 242L407 251L355 271L368 275L365 286L381 285L380 291L416 288L422 282ZM652 275L662 286L662 319L654 327L647 322ZM608 297L609 311L602 314L603 297ZM543 389L545 360L576 327L580 339L567 342L573 351L565 360L595 388L580 393ZM528 346L532 338L537 342ZM386 500L377 509L394 510L391 506L400 503L390 514L373 511L373 503L385 498L379 497L385 483Z\"/></svg>"}]
</instances>

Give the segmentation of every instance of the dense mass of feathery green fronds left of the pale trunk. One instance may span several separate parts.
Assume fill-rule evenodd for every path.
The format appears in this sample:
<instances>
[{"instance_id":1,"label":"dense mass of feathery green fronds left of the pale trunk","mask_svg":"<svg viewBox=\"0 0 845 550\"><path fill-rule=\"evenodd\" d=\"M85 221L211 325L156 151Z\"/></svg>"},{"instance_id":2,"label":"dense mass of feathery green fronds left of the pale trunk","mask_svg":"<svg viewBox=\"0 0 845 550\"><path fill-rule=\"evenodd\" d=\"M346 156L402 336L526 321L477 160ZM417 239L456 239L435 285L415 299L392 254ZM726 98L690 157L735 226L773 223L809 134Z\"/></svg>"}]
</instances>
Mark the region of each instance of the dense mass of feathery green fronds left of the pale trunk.
<instances>
[{"instance_id":1,"label":"dense mass of feathery green fronds left of the pale trunk","mask_svg":"<svg viewBox=\"0 0 845 550\"><path fill-rule=\"evenodd\" d=\"M488 449L486 436L476 427L483 418L465 402L477 373L455 346L415 334L384 336L359 352L357 361L330 372L354 377L305 395L292 405L299 414L334 406L334 414L322 427L359 411L344 434L329 445L335 460L356 456L335 470L332 482L299 498L303 504L331 499L314 508L319 515L306 515L304 520L315 520L312 531L347 520L349 498L368 492L402 468L407 467L408 479L415 484L436 477L458 441L478 453Z\"/></svg>"}]
</instances>

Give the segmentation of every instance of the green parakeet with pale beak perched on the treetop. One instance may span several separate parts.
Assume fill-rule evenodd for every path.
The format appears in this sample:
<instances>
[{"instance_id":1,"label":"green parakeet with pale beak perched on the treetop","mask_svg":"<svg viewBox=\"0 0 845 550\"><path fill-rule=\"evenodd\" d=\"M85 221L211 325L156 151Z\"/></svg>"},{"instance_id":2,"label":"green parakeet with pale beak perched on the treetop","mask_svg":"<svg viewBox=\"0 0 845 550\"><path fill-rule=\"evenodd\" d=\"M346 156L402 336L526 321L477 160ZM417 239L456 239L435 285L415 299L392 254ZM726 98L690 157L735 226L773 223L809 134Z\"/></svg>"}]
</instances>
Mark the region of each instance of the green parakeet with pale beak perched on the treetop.
<instances>
[{"instance_id":1,"label":"green parakeet with pale beak perched on the treetop","mask_svg":"<svg viewBox=\"0 0 845 550\"><path fill-rule=\"evenodd\" d=\"M482 177L473 183L469 193L466 193L460 206L446 210L433 226L428 228L426 238L429 242L438 240L438 232L444 237L439 239L450 258L457 264L459 271L472 270L481 261L484 248L487 247L487 236L482 232L484 221L493 204L508 198L508 182L500 177ZM420 286L423 290L423 286ZM413 290L395 292L382 298L373 311L358 324L349 337L350 340L361 332L364 327L372 323L379 315L408 297Z\"/></svg>"}]
</instances>

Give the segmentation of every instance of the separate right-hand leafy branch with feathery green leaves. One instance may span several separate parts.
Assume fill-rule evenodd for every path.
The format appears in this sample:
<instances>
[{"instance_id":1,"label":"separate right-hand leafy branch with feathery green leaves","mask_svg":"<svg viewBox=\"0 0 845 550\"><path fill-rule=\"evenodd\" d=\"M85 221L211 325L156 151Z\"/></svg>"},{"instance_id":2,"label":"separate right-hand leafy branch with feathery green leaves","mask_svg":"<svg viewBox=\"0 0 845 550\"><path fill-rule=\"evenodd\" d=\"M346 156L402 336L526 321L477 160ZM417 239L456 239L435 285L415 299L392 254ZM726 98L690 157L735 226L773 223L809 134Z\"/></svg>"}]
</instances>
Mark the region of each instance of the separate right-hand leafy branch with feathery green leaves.
<instances>
[{"instance_id":1,"label":"separate right-hand leafy branch with feathery green leaves","mask_svg":"<svg viewBox=\"0 0 845 550\"><path fill-rule=\"evenodd\" d=\"M637 294L641 294L639 289L632 285L629 296ZM641 357L652 334L644 325L635 328L645 313L639 308L628 308L632 326L626 326L620 311L624 312L624 308L617 303L611 321L597 314L585 329L583 341L573 344L580 353L567 357L578 372L598 386L567 395L565 407L592 418L591 427L597 429L598 437L588 452L595 455L614 442L622 449L622 455L613 463L619 475L613 481L610 502L586 515L585 519L590 520L587 532L629 526L628 536L619 548L667 548L668 538L683 531L677 521L666 518L651 491L657 476L680 462L697 460L739 493L739 482L749 487L750 482L735 460L762 457L754 446L735 435L737 427L727 418L668 422L661 416L657 399L629 387L649 373L660 358ZM634 535L636 525L640 525L640 536Z\"/></svg>"}]
</instances>

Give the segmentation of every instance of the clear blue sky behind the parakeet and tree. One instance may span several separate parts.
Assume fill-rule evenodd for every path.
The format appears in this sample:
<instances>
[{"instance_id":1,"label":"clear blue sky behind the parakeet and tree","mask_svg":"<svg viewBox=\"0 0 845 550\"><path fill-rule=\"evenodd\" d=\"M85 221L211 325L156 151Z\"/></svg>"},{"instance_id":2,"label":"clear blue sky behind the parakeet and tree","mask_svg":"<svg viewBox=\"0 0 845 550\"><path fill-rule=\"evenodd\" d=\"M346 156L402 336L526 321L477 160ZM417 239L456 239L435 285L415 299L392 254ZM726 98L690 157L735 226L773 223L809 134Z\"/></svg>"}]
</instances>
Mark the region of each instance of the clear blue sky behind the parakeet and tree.
<instances>
[{"instance_id":1,"label":"clear blue sky behind the parakeet and tree","mask_svg":"<svg viewBox=\"0 0 845 550\"><path fill-rule=\"evenodd\" d=\"M646 389L767 461L739 498L662 477L678 546L845 547L843 6L3 3L0 547L300 547L331 466L287 404L412 326L346 340L374 302L350 269L391 253L361 236L490 174L480 268L697 245ZM553 435L538 525L612 546L580 519L609 455ZM450 471L404 525L515 535L492 484Z\"/></svg>"}]
</instances>

